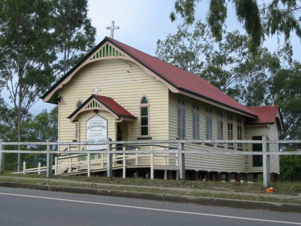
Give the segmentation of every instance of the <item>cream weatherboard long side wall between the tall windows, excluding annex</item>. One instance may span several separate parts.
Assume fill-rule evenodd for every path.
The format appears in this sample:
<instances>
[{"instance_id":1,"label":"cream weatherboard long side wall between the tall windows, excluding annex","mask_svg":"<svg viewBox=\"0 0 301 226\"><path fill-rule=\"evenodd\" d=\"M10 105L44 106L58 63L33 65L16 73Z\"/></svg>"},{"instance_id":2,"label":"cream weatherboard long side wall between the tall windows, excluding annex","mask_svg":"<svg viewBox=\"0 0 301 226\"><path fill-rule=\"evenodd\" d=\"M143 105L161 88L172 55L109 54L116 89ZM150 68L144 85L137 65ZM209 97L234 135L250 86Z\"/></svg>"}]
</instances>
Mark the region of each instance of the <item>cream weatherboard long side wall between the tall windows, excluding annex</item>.
<instances>
[{"instance_id":1,"label":"cream weatherboard long side wall between the tall windows, excluding annex","mask_svg":"<svg viewBox=\"0 0 301 226\"><path fill-rule=\"evenodd\" d=\"M171 140L177 138L177 107L179 95L170 92L169 103L169 138ZM228 139L227 131L227 111L220 110L215 106L210 106L201 101L194 100L190 97L183 96L186 108L186 139L193 139L192 133L192 108L193 104L198 104L200 111L200 139L206 139L205 129L205 109L206 107L212 110L212 138L217 140L217 112L221 111L223 114L223 137ZM233 117L233 139L237 139L237 115L232 114ZM242 139L245 139L244 118L242 119ZM237 144L233 145L237 149ZM243 144L243 149L246 145ZM185 144L185 149L198 149L198 150L220 150L228 151L228 145L223 145L222 148L217 145L195 145ZM187 170L205 170L205 171L220 171L220 172L246 172L246 158L245 156L228 156L228 155L202 155L202 154L185 154L185 167Z\"/></svg>"}]
</instances>

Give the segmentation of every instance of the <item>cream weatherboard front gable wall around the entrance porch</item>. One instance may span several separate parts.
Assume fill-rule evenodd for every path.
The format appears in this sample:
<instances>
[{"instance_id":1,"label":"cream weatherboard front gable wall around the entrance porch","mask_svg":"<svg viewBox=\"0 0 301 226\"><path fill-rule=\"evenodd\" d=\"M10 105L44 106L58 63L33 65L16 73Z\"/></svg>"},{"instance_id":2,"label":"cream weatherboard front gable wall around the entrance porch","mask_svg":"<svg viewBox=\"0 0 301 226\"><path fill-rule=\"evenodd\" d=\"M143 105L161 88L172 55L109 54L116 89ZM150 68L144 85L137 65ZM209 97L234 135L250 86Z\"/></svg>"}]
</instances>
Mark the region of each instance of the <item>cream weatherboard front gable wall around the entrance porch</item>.
<instances>
[{"instance_id":1,"label":"cream weatherboard front gable wall around the entrance porch","mask_svg":"<svg viewBox=\"0 0 301 226\"><path fill-rule=\"evenodd\" d=\"M129 66L131 65L131 66ZM67 117L76 109L78 100L85 101L98 85L99 95L112 97L132 115L134 122L126 122L128 140L136 140L140 136L139 101L145 95L149 100L149 136L153 140L168 139L168 88L161 81L149 76L133 62L124 59L103 59L82 68L59 91L62 101L59 104L59 140L74 140L74 123ZM86 121L95 113L81 113L79 119L79 141L85 141ZM116 140L115 119L106 111L98 114L109 118L108 136ZM124 125L123 125L124 126Z\"/></svg>"}]
</instances>

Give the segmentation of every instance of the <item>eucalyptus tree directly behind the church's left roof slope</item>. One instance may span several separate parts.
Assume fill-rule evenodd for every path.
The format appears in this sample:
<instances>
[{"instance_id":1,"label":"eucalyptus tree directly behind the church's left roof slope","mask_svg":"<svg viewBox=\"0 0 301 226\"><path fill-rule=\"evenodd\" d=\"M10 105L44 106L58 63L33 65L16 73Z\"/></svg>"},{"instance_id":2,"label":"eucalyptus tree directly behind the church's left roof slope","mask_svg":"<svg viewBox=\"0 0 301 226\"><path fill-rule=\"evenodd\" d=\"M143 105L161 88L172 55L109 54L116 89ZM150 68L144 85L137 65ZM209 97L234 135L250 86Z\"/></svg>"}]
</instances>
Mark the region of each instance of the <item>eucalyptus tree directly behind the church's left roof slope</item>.
<instances>
[{"instance_id":1,"label":"eucalyptus tree directly behind the church's left roof slope","mask_svg":"<svg viewBox=\"0 0 301 226\"><path fill-rule=\"evenodd\" d=\"M92 47L96 29L87 16L87 0L54 1L53 25L57 43L58 73L66 74Z\"/></svg>"}]
</instances>

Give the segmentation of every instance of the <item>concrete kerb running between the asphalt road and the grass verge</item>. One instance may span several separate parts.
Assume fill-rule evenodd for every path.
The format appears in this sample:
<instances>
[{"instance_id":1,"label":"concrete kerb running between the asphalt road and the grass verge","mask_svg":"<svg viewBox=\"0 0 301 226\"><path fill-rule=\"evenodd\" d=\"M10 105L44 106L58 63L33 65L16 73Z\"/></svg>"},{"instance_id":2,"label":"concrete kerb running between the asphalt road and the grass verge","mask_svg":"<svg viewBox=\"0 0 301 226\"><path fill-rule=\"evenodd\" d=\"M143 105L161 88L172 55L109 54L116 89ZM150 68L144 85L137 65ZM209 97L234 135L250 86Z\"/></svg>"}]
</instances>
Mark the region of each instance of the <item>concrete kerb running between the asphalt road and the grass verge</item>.
<instances>
[{"instance_id":1,"label":"concrete kerb running between the asphalt road and the grass verge","mask_svg":"<svg viewBox=\"0 0 301 226\"><path fill-rule=\"evenodd\" d=\"M82 188L82 187L69 187L69 186L44 185L44 184L26 184L26 183L5 182L5 181L0 181L0 186L13 187L13 188L27 188L27 189L44 190L44 191L60 191L60 192L69 192L69 193L106 195L106 196L116 196L116 197L124 197L124 198L139 198L139 199L158 200L158 201L167 201L167 202L194 203L194 204L211 205L211 206L227 206L227 207L234 207L234 208L263 209L263 210L280 211L280 212L301 213L301 205L292 204L292 203L258 202L258 201L226 199L226 198L182 196L182 195L162 194L162 193L117 191L117 190L109 190L109 189Z\"/></svg>"}]
</instances>

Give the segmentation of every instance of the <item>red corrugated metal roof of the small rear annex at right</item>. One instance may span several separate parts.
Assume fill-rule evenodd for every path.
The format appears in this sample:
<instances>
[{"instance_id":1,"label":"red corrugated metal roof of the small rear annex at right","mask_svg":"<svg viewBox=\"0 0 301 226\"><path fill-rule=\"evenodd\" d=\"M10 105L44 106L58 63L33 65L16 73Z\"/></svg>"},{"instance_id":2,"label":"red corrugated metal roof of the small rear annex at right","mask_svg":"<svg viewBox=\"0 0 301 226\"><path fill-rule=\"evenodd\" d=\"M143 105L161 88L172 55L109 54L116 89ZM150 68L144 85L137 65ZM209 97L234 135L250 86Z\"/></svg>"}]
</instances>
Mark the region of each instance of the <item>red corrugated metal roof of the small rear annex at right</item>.
<instances>
[{"instance_id":1,"label":"red corrugated metal roof of the small rear annex at right","mask_svg":"<svg viewBox=\"0 0 301 226\"><path fill-rule=\"evenodd\" d=\"M258 118L248 121L247 124L268 124L275 123L277 112L279 111L279 105L274 106L248 106L247 107ZM281 120L281 119L280 119Z\"/></svg>"}]
</instances>

